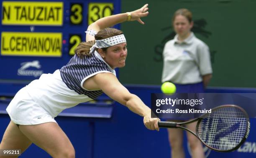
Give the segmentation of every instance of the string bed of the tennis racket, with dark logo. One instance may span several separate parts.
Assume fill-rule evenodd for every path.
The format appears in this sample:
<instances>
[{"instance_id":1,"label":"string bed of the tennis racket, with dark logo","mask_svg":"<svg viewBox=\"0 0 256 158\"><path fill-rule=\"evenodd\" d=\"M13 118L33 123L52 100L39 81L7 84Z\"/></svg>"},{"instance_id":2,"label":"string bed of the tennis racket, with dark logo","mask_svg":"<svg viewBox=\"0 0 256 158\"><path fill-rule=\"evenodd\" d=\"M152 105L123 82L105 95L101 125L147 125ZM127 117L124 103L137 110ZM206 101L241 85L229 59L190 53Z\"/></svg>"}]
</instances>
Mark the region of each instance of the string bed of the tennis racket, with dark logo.
<instances>
[{"instance_id":1,"label":"string bed of the tennis racket, with dark logo","mask_svg":"<svg viewBox=\"0 0 256 158\"><path fill-rule=\"evenodd\" d=\"M197 130L201 140L210 147L231 150L243 140L247 126L243 111L236 107L225 107L202 118Z\"/></svg>"}]
</instances>

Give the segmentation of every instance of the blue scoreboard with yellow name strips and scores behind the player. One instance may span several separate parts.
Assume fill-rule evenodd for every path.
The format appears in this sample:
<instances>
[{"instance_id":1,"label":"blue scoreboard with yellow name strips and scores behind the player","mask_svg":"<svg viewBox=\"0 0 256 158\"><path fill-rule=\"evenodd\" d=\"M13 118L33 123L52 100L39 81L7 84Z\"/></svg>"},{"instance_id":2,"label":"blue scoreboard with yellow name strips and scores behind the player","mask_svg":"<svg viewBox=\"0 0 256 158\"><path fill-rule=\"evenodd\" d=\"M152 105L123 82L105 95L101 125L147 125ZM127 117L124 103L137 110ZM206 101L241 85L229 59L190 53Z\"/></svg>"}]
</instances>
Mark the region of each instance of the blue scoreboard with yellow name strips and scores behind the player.
<instances>
[{"instance_id":1,"label":"blue scoreboard with yellow name strips and scores behind the player","mask_svg":"<svg viewBox=\"0 0 256 158\"><path fill-rule=\"evenodd\" d=\"M120 13L120 0L1 0L0 5L0 86L60 69L85 41L88 25Z\"/></svg>"}]
</instances>

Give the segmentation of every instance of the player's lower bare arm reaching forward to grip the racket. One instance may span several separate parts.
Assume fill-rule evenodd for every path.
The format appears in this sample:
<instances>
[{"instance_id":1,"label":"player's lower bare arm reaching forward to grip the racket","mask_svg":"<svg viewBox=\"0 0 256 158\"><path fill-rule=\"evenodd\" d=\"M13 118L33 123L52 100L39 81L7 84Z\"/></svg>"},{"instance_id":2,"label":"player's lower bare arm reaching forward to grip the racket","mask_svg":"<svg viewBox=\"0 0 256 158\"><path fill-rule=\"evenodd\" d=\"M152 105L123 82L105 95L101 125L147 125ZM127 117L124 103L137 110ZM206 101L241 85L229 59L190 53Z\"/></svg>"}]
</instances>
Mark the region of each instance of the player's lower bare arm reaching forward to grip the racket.
<instances>
[{"instance_id":1,"label":"player's lower bare arm reaching forward to grip the racket","mask_svg":"<svg viewBox=\"0 0 256 158\"><path fill-rule=\"evenodd\" d=\"M159 119L151 118L151 109L137 95L131 94L112 73L99 73L83 84L87 89L101 89L113 100L128 107L133 113L143 116L143 123L150 130L159 130Z\"/></svg>"}]
</instances>

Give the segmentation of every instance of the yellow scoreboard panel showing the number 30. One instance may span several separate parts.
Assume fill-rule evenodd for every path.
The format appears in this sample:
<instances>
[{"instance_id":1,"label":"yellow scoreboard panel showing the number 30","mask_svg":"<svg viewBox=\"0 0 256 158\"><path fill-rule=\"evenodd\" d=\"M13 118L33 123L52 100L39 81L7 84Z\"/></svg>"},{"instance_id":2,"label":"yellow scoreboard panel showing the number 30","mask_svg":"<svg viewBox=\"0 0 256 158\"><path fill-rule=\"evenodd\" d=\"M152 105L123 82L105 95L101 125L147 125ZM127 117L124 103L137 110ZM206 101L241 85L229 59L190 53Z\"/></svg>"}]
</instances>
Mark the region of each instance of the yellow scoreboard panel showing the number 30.
<instances>
[{"instance_id":1,"label":"yellow scoreboard panel showing the number 30","mask_svg":"<svg viewBox=\"0 0 256 158\"><path fill-rule=\"evenodd\" d=\"M113 3L89 3L88 5L88 25L96 20L113 14Z\"/></svg>"}]
</instances>

